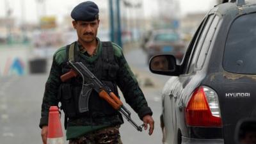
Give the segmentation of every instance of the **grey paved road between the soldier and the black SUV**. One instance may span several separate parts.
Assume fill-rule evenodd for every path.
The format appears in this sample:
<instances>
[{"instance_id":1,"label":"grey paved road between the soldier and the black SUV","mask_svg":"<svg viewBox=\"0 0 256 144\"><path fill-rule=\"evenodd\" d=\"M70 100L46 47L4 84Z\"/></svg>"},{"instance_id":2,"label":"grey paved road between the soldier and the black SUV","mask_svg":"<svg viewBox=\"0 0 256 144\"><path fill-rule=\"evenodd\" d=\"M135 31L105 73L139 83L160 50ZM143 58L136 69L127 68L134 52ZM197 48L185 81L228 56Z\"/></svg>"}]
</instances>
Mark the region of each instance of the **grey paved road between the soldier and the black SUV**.
<instances>
[{"instance_id":1,"label":"grey paved road between the soldier and the black SUV","mask_svg":"<svg viewBox=\"0 0 256 144\"><path fill-rule=\"evenodd\" d=\"M138 76L141 89L143 90L145 97L148 101L148 105L152 108L154 113L153 118L155 120L155 130L152 136L148 136L148 131L136 132L127 122L122 125L120 132L122 134L122 140L124 143L134 144L157 144L161 143L162 132L160 129L159 116L161 115L161 88L168 77L152 74L148 68L147 56L141 49L132 49L132 51L125 53L125 58L131 65L132 70ZM146 79L154 84L154 86L145 86ZM144 83L143 83L144 82ZM136 113L132 113L135 116L135 120L138 119ZM140 122L140 120L136 120Z\"/></svg>"}]
</instances>

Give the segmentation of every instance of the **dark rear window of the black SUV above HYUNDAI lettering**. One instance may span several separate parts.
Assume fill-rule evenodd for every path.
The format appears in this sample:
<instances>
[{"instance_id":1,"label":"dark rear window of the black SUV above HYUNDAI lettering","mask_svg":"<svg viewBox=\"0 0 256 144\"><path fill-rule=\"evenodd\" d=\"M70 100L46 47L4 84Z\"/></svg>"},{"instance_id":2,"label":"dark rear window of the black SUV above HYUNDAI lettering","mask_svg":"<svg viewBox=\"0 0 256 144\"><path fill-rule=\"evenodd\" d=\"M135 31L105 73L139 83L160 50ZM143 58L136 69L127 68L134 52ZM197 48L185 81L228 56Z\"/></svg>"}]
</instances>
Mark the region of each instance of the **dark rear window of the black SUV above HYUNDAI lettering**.
<instances>
[{"instance_id":1,"label":"dark rear window of the black SUV above HYUNDAI lettering","mask_svg":"<svg viewBox=\"0 0 256 144\"><path fill-rule=\"evenodd\" d=\"M256 74L256 13L238 17L232 23L223 67L237 74Z\"/></svg>"}]
</instances>

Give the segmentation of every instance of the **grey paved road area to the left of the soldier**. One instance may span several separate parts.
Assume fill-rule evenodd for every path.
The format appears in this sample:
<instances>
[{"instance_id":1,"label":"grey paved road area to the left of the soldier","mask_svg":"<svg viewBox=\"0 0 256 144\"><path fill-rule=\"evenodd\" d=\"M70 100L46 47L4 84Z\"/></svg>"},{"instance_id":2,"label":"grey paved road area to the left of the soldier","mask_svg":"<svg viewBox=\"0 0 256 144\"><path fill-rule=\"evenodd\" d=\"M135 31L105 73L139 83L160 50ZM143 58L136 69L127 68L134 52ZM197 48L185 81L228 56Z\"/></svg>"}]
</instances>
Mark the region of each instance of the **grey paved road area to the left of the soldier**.
<instances>
[{"instance_id":1,"label":"grey paved road area to the left of the soldier","mask_svg":"<svg viewBox=\"0 0 256 144\"><path fill-rule=\"evenodd\" d=\"M45 75L1 77L0 144L40 143L40 103Z\"/></svg>"}]
</instances>

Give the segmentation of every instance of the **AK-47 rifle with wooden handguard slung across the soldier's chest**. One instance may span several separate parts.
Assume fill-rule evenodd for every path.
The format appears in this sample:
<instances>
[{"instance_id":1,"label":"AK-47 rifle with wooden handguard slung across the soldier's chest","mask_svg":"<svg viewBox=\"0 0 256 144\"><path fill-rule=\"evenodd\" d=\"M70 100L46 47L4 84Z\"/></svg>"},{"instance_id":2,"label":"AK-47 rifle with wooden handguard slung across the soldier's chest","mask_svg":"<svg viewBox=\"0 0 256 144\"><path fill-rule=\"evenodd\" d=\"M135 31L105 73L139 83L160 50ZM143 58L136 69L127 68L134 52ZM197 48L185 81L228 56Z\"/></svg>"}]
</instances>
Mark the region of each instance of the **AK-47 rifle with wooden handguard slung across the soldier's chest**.
<instances>
[{"instance_id":1,"label":"AK-47 rifle with wooden handguard slung across the soldier's chest","mask_svg":"<svg viewBox=\"0 0 256 144\"><path fill-rule=\"evenodd\" d=\"M92 72L81 62L72 62L68 61L68 65L70 65L71 69L66 74L61 76L61 81L65 82L72 77L76 77L77 74L83 79L83 87L81 90L81 94L79 95L79 112L83 113L88 111L88 102L90 93L92 89L99 93L99 96L106 100L114 109L116 109L119 113L121 113L125 119L130 122L138 131L142 131L142 127L144 124L138 126L131 119L131 112L125 108L124 104L118 97L116 97L115 93L111 91L111 89L103 84L97 77L95 77Z\"/></svg>"}]
</instances>

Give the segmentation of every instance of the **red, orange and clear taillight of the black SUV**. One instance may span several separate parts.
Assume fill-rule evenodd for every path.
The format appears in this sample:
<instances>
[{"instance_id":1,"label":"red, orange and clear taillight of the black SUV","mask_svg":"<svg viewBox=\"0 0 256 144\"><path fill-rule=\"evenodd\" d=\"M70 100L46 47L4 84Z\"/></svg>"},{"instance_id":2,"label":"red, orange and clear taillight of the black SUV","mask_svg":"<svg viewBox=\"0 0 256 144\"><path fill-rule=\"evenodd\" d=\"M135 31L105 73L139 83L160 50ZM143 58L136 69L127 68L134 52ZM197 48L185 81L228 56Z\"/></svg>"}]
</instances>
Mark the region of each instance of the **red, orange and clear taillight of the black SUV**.
<instances>
[{"instance_id":1,"label":"red, orange and clear taillight of the black SUV","mask_svg":"<svg viewBox=\"0 0 256 144\"><path fill-rule=\"evenodd\" d=\"M221 127L218 95L207 86L196 88L186 107L186 123L197 127Z\"/></svg>"}]
</instances>

